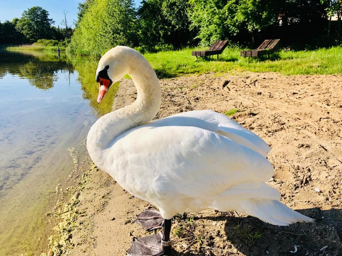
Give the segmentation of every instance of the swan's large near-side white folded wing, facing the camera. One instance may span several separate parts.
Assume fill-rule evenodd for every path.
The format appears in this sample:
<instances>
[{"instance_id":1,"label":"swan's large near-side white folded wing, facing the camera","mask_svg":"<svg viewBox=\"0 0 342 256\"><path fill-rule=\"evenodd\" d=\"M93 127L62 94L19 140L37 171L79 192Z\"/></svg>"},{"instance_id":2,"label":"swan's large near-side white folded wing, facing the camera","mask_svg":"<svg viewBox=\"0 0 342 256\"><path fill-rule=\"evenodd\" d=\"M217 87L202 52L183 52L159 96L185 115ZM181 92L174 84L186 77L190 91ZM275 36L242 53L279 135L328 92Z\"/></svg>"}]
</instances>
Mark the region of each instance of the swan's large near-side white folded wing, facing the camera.
<instances>
[{"instance_id":1,"label":"swan's large near-side white folded wing, facing the camera","mask_svg":"<svg viewBox=\"0 0 342 256\"><path fill-rule=\"evenodd\" d=\"M259 153L218 133L188 126L148 126L121 134L105 170L133 195L208 198L273 176ZM108 171L112 169L116 173Z\"/></svg>"}]
</instances>

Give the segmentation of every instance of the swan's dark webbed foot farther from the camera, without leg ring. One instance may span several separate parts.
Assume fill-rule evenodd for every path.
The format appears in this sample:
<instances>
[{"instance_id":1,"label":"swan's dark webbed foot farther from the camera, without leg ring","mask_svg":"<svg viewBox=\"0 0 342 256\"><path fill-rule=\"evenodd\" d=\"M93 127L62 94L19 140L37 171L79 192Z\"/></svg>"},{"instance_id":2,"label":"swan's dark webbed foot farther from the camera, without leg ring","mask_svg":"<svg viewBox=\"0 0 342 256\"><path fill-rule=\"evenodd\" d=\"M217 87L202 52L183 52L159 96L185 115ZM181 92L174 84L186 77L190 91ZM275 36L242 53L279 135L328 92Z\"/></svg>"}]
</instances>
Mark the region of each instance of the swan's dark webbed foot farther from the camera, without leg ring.
<instances>
[{"instance_id":1,"label":"swan's dark webbed foot farther from the camera, without leg ring","mask_svg":"<svg viewBox=\"0 0 342 256\"><path fill-rule=\"evenodd\" d=\"M152 231L154 229L161 228L163 217L161 217L159 211L146 209L139 214L133 222L146 228L146 231Z\"/></svg>"}]
</instances>

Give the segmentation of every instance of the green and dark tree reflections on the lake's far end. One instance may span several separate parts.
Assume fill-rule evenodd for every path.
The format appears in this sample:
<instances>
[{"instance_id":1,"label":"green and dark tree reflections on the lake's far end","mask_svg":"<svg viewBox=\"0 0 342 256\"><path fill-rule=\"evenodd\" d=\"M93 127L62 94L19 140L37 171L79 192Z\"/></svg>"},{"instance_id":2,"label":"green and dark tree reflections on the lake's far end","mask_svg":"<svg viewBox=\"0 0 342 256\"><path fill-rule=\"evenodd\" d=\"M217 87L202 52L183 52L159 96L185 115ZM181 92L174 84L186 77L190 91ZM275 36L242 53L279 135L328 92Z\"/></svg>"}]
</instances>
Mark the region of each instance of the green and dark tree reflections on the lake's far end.
<instances>
[{"instance_id":1,"label":"green and dark tree reflections on the lake's far end","mask_svg":"<svg viewBox=\"0 0 342 256\"><path fill-rule=\"evenodd\" d=\"M18 75L28 79L30 85L47 90L54 86L58 79L58 72L78 72L78 81L83 91L83 99L89 100L89 105L98 115L111 111L115 100L118 84L113 85L101 104L96 102L98 84L95 82L97 68L96 59L75 57L62 53L38 51L0 52L0 77L6 73Z\"/></svg>"}]
</instances>

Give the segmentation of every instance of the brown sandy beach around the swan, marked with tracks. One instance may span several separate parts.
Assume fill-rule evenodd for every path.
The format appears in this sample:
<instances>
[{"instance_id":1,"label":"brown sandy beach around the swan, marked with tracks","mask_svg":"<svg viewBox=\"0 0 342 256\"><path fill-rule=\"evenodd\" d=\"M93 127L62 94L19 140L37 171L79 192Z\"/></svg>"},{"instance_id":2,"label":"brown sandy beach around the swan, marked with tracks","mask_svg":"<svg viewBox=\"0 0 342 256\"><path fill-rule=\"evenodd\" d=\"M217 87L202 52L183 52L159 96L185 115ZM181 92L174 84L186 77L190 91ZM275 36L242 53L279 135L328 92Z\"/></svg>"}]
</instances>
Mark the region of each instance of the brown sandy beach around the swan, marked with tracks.
<instances>
[{"instance_id":1,"label":"brown sandy beach around the swan, marked with tracks","mask_svg":"<svg viewBox=\"0 0 342 256\"><path fill-rule=\"evenodd\" d=\"M170 255L342 254L341 75L208 73L164 79L160 85L156 119L237 109L231 117L272 148L268 159L275 173L268 184L288 207L317 220L278 227L238 212L185 213L173 221ZM135 98L133 82L123 79L114 109ZM60 199L48 213L59 224L46 255L126 255L134 238L153 233L132 221L154 206L124 191L89 156L73 158L74 170L56 189Z\"/></svg>"}]
</instances>

